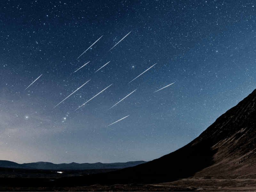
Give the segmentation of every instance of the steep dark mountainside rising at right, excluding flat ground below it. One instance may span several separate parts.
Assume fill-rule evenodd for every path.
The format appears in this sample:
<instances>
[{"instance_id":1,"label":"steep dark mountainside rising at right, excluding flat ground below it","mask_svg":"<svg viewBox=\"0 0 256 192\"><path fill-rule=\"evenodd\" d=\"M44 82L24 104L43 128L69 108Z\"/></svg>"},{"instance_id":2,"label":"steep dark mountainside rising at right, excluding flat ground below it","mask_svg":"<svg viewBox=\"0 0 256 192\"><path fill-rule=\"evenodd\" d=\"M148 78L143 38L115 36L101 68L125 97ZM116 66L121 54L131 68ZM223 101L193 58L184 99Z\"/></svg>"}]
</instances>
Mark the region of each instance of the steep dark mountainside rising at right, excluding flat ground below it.
<instances>
[{"instance_id":1,"label":"steep dark mountainside rising at right, excluding flat ground below it","mask_svg":"<svg viewBox=\"0 0 256 192\"><path fill-rule=\"evenodd\" d=\"M89 186L164 183L188 178L256 178L256 90L184 147L137 166L53 181L19 178L19 185ZM12 179L12 178L8 178ZM18 185L18 184L17 184Z\"/></svg>"}]
</instances>

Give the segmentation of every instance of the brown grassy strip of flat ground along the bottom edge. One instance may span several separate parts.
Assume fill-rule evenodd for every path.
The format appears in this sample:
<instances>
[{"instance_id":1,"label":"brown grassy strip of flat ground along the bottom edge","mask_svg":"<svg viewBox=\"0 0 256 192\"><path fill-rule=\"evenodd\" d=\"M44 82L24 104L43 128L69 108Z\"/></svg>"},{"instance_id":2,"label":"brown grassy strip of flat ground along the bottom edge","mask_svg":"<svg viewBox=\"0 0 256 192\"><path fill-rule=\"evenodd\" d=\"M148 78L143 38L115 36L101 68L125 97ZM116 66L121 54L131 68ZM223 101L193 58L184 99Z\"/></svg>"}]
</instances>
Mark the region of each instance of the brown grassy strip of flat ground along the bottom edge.
<instances>
[{"instance_id":1,"label":"brown grassy strip of flat ground along the bottom edge","mask_svg":"<svg viewBox=\"0 0 256 192\"><path fill-rule=\"evenodd\" d=\"M1 186L0 191L256 191L256 179L196 178L158 184L115 184L77 187Z\"/></svg>"}]
</instances>

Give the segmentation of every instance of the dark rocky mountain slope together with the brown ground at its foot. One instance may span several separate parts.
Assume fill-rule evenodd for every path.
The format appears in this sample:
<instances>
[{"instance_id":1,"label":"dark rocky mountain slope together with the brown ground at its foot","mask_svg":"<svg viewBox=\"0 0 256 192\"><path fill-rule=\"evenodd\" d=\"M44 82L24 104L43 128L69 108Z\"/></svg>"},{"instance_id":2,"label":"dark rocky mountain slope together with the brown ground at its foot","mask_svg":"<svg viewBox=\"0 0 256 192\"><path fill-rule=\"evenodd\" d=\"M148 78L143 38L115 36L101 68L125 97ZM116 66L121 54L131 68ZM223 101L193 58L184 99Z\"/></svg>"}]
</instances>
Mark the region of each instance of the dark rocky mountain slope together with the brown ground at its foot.
<instances>
[{"instance_id":1,"label":"dark rocky mountain slope together with the brown ground at its foot","mask_svg":"<svg viewBox=\"0 0 256 192\"><path fill-rule=\"evenodd\" d=\"M256 191L255 102L256 90L186 146L144 164L47 180L2 178L0 185L16 191Z\"/></svg>"}]
</instances>

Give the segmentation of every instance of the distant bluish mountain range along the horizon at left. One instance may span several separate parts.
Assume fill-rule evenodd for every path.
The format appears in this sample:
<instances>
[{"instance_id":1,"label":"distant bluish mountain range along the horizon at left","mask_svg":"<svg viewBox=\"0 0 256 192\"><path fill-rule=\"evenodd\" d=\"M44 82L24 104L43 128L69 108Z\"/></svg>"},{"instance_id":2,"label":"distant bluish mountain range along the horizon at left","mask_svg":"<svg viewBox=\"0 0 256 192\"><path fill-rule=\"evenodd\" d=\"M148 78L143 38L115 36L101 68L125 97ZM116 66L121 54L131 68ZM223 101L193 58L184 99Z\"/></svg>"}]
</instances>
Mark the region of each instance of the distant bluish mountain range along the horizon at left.
<instances>
[{"instance_id":1,"label":"distant bluish mountain range along the horizon at left","mask_svg":"<svg viewBox=\"0 0 256 192\"><path fill-rule=\"evenodd\" d=\"M126 167L133 167L139 164L146 163L146 161L128 161L126 163L62 163L53 164L49 162L36 162L36 163L23 163L18 164L12 161L0 160L0 167L7 168L22 168L22 169L72 169L72 170L82 170L82 169L122 169Z\"/></svg>"}]
</instances>

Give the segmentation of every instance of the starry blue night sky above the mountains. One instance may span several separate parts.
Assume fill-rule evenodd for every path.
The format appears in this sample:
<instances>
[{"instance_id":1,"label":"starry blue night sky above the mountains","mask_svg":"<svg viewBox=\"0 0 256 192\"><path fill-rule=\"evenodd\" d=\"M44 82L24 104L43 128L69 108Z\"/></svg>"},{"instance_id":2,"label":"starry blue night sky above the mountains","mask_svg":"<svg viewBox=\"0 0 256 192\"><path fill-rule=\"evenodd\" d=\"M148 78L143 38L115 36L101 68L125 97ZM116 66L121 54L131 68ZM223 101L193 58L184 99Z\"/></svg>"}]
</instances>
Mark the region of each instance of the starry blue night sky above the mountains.
<instances>
[{"instance_id":1,"label":"starry blue night sky above the mountains","mask_svg":"<svg viewBox=\"0 0 256 192\"><path fill-rule=\"evenodd\" d=\"M0 5L1 160L150 161L256 88L252 0Z\"/></svg>"}]
</instances>

